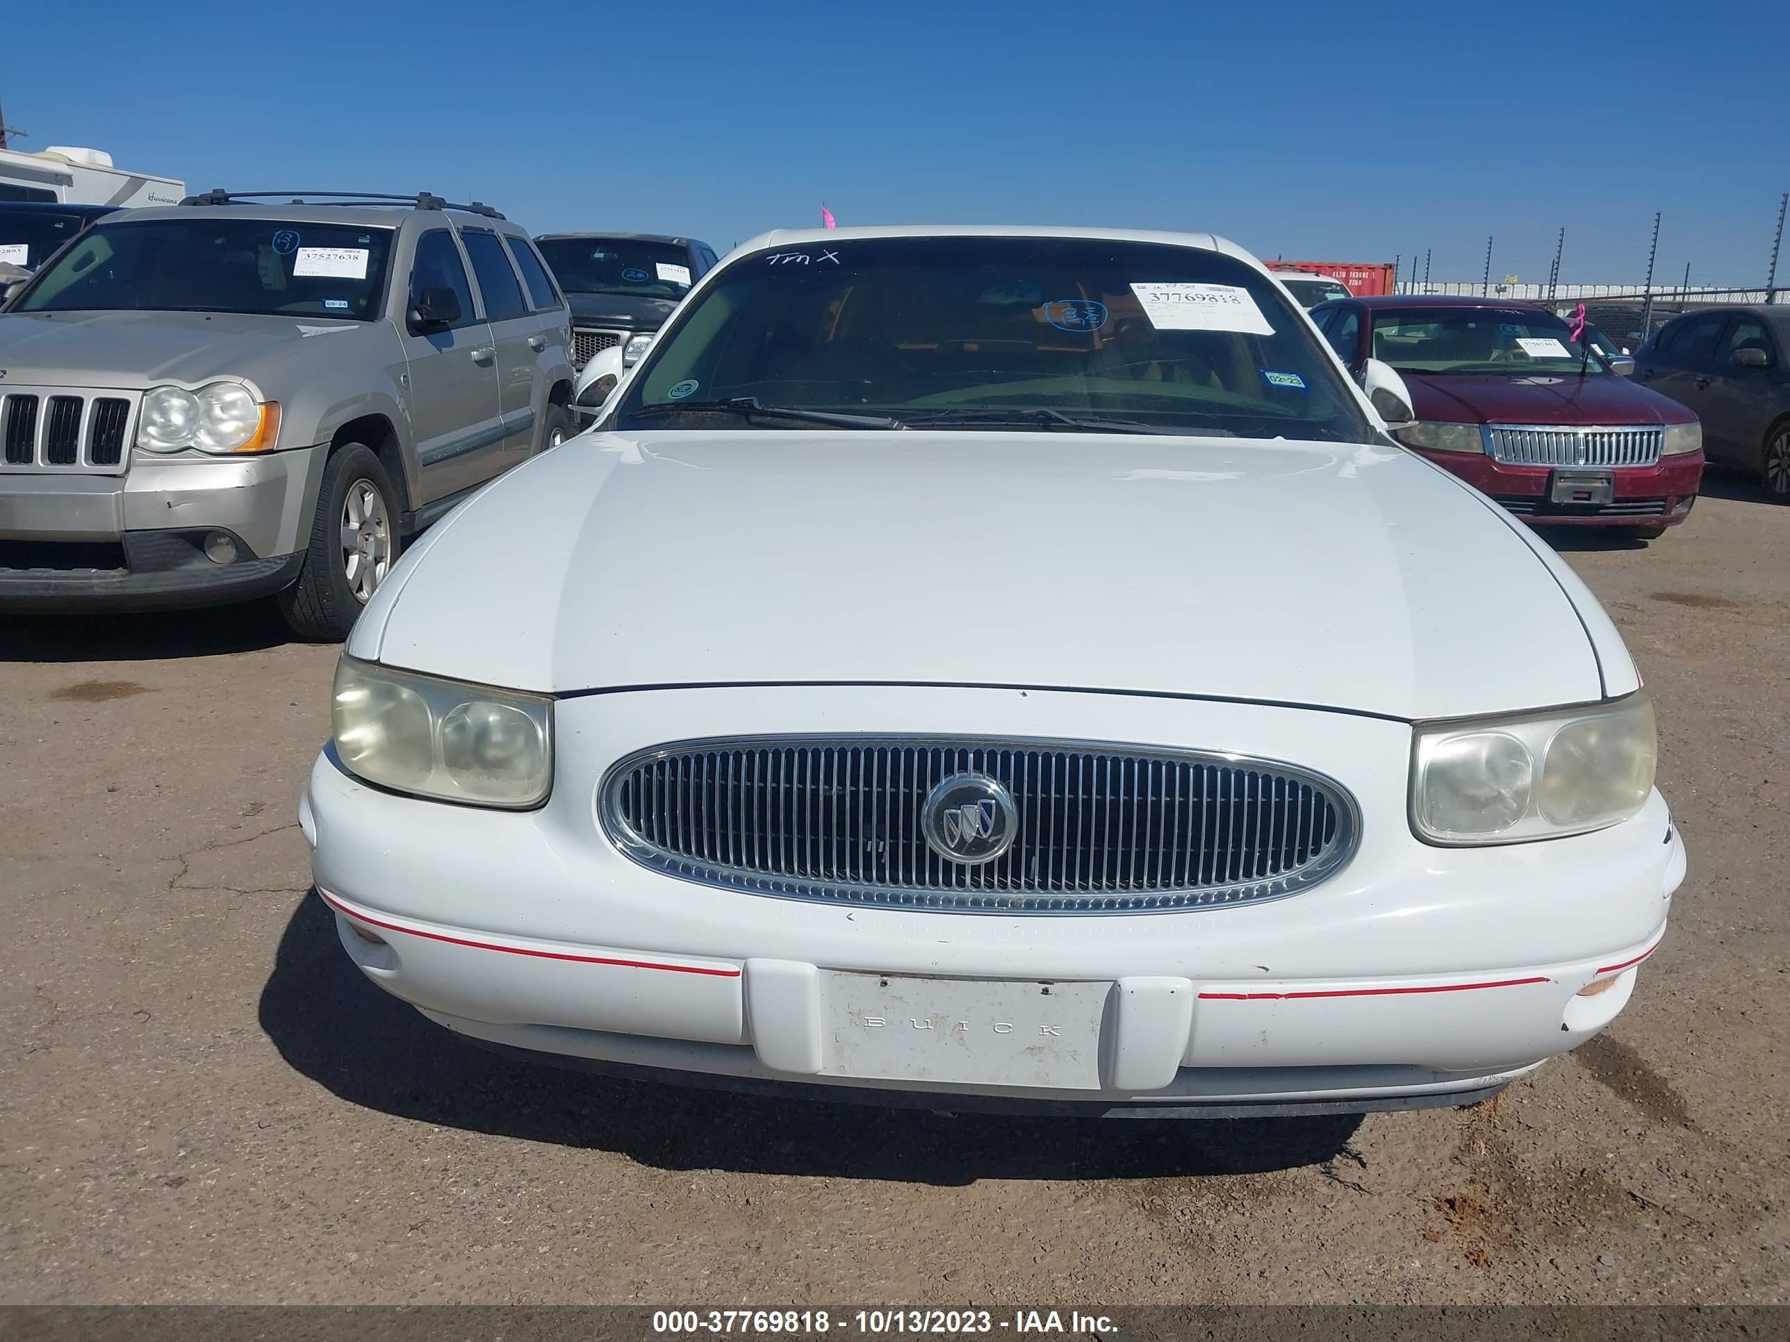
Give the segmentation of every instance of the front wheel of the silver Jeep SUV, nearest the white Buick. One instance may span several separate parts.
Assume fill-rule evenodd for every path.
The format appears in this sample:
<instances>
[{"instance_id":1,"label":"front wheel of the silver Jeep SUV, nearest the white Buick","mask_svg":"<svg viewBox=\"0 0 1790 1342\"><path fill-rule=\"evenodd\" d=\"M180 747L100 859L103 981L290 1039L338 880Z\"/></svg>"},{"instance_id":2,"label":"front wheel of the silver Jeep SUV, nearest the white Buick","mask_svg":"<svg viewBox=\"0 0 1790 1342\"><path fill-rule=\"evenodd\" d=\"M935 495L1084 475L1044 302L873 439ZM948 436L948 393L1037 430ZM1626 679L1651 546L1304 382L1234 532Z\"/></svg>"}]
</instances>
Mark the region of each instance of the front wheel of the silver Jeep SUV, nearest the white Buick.
<instances>
[{"instance_id":1,"label":"front wheel of the silver Jeep SUV, nearest the white Buick","mask_svg":"<svg viewBox=\"0 0 1790 1342\"><path fill-rule=\"evenodd\" d=\"M279 608L303 639L340 641L397 562L397 492L379 458L349 442L331 453L299 580Z\"/></svg>"}]
</instances>

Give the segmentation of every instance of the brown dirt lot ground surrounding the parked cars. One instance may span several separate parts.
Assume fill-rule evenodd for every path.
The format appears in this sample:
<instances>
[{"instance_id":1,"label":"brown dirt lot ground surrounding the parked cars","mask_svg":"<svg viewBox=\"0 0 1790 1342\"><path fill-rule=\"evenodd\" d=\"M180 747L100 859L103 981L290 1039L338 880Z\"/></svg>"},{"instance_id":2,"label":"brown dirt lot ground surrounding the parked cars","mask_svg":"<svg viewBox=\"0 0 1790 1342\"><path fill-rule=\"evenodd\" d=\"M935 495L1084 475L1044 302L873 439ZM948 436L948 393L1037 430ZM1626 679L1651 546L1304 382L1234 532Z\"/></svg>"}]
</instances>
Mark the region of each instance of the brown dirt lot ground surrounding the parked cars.
<instances>
[{"instance_id":1,"label":"brown dirt lot ground surrounding the parked cars","mask_svg":"<svg viewBox=\"0 0 1790 1342\"><path fill-rule=\"evenodd\" d=\"M1713 488L1659 542L1570 549L1690 845L1634 1004L1495 1106L1364 1122L777 1106L485 1056L306 893L335 648L260 610L0 619L0 1299L1790 1301L1790 508Z\"/></svg>"}]
</instances>

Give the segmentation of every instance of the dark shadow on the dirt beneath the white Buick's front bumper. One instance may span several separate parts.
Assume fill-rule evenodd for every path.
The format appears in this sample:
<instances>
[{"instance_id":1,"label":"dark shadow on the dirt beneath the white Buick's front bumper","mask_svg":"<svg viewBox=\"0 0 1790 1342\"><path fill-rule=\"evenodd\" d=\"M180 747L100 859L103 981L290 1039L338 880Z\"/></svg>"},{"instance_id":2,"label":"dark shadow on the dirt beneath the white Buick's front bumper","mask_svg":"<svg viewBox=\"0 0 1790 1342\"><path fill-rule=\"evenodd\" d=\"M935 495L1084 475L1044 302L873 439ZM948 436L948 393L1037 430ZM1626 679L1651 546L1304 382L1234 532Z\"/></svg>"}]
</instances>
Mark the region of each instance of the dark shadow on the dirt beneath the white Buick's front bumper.
<instances>
[{"instance_id":1,"label":"dark shadow on the dirt beneath the white Buick's front bumper","mask_svg":"<svg viewBox=\"0 0 1790 1342\"><path fill-rule=\"evenodd\" d=\"M661 1170L899 1179L1156 1179L1323 1165L1360 1115L1310 1118L1026 1118L773 1100L566 1072L464 1043L378 990L337 941L315 891L286 925L261 1029L349 1104L524 1142L612 1151Z\"/></svg>"}]
</instances>

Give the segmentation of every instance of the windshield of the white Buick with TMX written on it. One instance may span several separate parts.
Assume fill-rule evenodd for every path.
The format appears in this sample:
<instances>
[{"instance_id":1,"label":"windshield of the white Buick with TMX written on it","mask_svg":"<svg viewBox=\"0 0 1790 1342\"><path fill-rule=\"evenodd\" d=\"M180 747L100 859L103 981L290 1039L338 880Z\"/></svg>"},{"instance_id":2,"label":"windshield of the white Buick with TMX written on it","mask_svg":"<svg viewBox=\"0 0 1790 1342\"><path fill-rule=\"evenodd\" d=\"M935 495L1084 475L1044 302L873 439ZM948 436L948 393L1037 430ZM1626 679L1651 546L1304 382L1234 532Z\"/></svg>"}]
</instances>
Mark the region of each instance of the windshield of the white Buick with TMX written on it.
<instances>
[{"instance_id":1,"label":"windshield of the white Buick with TMX written on it","mask_svg":"<svg viewBox=\"0 0 1790 1342\"><path fill-rule=\"evenodd\" d=\"M743 397L909 428L1373 437L1266 276L1099 238L850 238L730 261L653 345L616 426L822 428L748 420L727 404Z\"/></svg>"}]
</instances>

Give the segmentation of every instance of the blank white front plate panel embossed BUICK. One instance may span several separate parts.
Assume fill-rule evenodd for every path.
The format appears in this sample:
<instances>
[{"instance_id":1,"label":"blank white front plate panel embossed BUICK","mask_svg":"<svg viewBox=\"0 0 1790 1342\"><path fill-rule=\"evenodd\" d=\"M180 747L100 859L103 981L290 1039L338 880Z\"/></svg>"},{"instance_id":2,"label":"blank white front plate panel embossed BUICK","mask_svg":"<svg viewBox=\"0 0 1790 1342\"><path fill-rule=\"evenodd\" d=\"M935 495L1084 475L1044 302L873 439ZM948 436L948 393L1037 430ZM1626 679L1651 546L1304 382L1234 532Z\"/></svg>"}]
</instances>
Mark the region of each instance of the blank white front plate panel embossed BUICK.
<instances>
[{"instance_id":1,"label":"blank white front plate panel embossed BUICK","mask_svg":"<svg viewBox=\"0 0 1790 1342\"><path fill-rule=\"evenodd\" d=\"M1108 982L822 972L838 1077L1099 1090Z\"/></svg>"}]
</instances>

